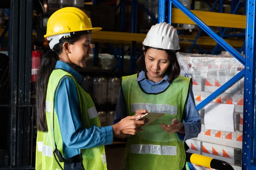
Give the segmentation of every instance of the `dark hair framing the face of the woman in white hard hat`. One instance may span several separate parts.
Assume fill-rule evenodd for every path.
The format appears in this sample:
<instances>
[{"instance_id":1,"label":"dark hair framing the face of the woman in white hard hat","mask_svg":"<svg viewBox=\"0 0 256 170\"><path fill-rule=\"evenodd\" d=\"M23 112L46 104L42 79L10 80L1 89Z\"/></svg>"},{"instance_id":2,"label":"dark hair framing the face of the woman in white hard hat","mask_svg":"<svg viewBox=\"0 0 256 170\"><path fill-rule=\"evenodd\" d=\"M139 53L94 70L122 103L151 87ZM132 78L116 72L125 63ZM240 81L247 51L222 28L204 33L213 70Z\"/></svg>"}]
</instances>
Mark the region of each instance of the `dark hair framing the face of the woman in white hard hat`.
<instances>
[{"instance_id":1,"label":"dark hair framing the face of the woman in white hard hat","mask_svg":"<svg viewBox=\"0 0 256 170\"><path fill-rule=\"evenodd\" d=\"M147 72L146 69L146 64L145 64L145 54L148 51L149 48L148 46L144 46L144 52L138 59L138 66L141 70ZM166 74L168 74L168 81L172 82L173 80L177 79L177 77L180 75L180 64L178 62L177 56L174 51L168 51L165 50L166 53L168 54L168 59L170 61L170 65L166 70Z\"/></svg>"}]
</instances>

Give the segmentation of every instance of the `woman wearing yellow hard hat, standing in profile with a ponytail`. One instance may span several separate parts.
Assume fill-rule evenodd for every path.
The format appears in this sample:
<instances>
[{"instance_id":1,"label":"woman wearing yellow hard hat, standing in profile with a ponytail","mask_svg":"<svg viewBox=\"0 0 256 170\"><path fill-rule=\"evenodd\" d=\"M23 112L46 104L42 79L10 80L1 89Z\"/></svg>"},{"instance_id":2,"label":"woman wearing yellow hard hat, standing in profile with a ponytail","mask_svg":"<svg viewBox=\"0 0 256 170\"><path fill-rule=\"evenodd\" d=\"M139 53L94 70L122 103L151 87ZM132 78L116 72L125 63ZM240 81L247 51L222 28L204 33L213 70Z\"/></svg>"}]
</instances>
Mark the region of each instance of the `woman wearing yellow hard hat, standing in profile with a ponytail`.
<instances>
[{"instance_id":1,"label":"woman wearing yellow hard hat, standing in profile with a ponytail","mask_svg":"<svg viewBox=\"0 0 256 170\"><path fill-rule=\"evenodd\" d=\"M137 133L145 121L129 116L113 126L101 127L94 103L80 86L75 66L85 67L93 28L78 8L56 11L47 22L50 51L43 57L36 82L36 170L105 170L104 145L113 136ZM140 111L137 111L139 113Z\"/></svg>"}]
</instances>

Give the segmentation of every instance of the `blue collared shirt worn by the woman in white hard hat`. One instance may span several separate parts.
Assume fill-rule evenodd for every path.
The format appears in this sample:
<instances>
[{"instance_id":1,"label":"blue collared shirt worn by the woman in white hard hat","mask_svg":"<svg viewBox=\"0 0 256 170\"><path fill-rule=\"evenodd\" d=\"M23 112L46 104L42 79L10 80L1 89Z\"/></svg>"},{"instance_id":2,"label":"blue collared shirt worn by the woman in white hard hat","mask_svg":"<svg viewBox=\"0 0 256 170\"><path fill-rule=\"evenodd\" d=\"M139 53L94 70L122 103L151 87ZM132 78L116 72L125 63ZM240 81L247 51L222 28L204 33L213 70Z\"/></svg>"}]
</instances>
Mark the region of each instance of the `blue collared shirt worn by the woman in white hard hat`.
<instances>
[{"instance_id":1,"label":"blue collared shirt worn by the woman in white hard hat","mask_svg":"<svg viewBox=\"0 0 256 170\"><path fill-rule=\"evenodd\" d=\"M153 94L164 91L172 83L168 81L167 74L161 81L154 83L151 80L146 79L146 75L144 71L141 71L139 73L137 81L140 82L141 87L146 93L153 93ZM125 101L123 99L122 88L120 88L119 97L118 97L117 106L116 106L115 120L113 124L116 124L121 119L127 116L125 108L126 107L125 107ZM187 139L198 137L198 134L201 132L201 116L199 115L195 106L195 99L192 91L192 85L190 85L189 87L189 97L184 109L185 109L185 112L184 112L183 125L185 128L186 135L183 135L178 132L177 132L177 135L180 140L186 141Z\"/></svg>"}]
</instances>

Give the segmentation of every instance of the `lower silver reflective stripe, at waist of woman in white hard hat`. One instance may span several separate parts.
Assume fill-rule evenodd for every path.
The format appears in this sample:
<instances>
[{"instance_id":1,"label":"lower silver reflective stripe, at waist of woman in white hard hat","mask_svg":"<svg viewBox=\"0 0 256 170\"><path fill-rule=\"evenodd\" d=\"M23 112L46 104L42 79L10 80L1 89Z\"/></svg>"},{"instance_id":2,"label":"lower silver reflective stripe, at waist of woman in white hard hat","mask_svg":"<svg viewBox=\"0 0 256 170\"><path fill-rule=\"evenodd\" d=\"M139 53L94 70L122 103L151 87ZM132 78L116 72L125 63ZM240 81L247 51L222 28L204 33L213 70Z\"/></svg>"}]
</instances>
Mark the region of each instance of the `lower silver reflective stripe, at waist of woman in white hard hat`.
<instances>
[{"instance_id":1,"label":"lower silver reflective stripe, at waist of woman in white hard hat","mask_svg":"<svg viewBox=\"0 0 256 170\"><path fill-rule=\"evenodd\" d=\"M131 144L130 153L177 156L177 146Z\"/></svg>"}]
</instances>

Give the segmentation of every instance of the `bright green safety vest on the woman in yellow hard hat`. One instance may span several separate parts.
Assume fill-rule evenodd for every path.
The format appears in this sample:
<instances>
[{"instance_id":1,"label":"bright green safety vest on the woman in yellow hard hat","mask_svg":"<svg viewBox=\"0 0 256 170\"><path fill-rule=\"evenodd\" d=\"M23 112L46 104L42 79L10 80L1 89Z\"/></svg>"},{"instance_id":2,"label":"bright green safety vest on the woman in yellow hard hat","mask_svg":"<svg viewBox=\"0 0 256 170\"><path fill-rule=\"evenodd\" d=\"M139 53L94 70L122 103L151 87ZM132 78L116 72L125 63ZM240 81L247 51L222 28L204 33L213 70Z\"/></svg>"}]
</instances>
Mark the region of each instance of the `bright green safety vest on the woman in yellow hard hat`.
<instances>
[{"instance_id":1,"label":"bright green safety vest on the woman in yellow hard hat","mask_svg":"<svg viewBox=\"0 0 256 170\"><path fill-rule=\"evenodd\" d=\"M48 132L38 131L36 142L36 170L61 170L64 169L64 163L59 162L53 151L55 143L58 150L63 155L63 141L61 130L58 123L58 117L54 109L54 96L59 81L64 76L70 76L75 84L79 97L81 108L82 128L90 128L92 126L101 127L99 116L90 95L76 82L76 79L68 72L62 69L52 71L49 77L46 95L46 118ZM54 125L54 133L53 133ZM93 147L80 150L82 158L82 167L84 170L107 170L106 155L104 146Z\"/></svg>"}]
</instances>

